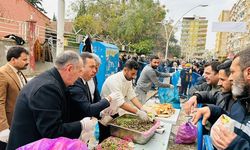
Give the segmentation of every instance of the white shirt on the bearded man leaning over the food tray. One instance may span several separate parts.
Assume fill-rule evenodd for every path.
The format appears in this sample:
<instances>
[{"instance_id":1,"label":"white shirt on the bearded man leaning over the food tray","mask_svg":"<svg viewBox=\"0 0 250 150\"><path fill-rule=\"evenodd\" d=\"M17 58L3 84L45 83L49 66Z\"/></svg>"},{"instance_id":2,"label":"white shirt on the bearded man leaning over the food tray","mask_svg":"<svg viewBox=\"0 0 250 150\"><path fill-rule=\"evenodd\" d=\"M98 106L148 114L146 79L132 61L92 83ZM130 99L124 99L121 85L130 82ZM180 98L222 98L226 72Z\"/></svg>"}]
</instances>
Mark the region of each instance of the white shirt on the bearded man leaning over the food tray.
<instances>
[{"instance_id":1,"label":"white shirt on the bearded man leaning over the food tray","mask_svg":"<svg viewBox=\"0 0 250 150\"><path fill-rule=\"evenodd\" d=\"M121 106L125 101L130 101L136 97L132 86L132 81L128 81L125 78L123 71L113 74L105 80L102 86L101 97L107 97L112 92L121 93L121 96L118 100L118 106Z\"/></svg>"}]
</instances>

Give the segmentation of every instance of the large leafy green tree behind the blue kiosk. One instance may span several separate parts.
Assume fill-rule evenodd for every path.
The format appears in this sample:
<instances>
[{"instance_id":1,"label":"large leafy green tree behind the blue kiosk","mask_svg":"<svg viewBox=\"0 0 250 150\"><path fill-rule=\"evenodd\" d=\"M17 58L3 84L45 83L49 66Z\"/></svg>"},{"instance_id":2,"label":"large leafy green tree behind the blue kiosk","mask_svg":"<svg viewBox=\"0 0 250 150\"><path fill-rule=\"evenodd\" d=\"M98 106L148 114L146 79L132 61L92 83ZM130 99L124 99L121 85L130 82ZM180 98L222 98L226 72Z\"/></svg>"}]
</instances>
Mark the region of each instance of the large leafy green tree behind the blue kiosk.
<instances>
[{"instance_id":1,"label":"large leafy green tree behind the blue kiosk","mask_svg":"<svg viewBox=\"0 0 250 150\"><path fill-rule=\"evenodd\" d=\"M99 35L117 46L131 43L139 54L163 51L164 28L156 25L164 20L164 6L154 0L79 0L72 4L77 14L74 25L82 34ZM110 40L112 39L112 40Z\"/></svg>"}]
</instances>

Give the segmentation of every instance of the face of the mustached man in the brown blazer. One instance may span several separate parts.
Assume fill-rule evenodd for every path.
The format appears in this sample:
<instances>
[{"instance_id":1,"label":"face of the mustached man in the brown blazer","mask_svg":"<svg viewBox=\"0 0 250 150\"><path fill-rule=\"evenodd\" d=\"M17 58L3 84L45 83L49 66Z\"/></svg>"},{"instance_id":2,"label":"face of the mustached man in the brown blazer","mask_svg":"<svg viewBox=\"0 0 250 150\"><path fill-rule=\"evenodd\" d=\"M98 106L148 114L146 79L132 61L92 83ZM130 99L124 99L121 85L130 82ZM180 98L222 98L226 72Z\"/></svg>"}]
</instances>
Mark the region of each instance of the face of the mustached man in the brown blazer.
<instances>
[{"instance_id":1,"label":"face of the mustached man in the brown blazer","mask_svg":"<svg viewBox=\"0 0 250 150\"><path fill-rule=\"evenodd\" d=\"M27 66L29 65L28 55L26 53L21 53L20 57L18 58L13 57L11 61L17 70L27 69Z\"/></svg>"}]
</instances>

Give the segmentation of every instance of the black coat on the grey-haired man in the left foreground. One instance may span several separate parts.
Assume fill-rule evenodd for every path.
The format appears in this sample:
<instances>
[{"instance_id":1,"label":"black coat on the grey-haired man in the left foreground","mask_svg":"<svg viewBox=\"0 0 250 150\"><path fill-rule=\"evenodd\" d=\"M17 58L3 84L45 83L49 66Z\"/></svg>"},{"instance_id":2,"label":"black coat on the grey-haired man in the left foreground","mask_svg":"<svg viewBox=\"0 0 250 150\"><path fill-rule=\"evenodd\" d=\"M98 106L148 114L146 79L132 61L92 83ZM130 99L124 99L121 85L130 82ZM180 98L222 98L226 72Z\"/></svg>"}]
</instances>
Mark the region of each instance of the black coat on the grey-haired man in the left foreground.
<instances>
[{"instance_id":1,"label":"black coat on the grey-haired man in the left foreground","mask_svg":"<svg viewBox=\"0 0 250 150\"><path fill-rule=\"evenodd\" d=\"M52 68L21 90L7 150L42 138L78 138L80 133L80 122L69 122L66 87L57 69Z\"/></svg>"}]
</instances>

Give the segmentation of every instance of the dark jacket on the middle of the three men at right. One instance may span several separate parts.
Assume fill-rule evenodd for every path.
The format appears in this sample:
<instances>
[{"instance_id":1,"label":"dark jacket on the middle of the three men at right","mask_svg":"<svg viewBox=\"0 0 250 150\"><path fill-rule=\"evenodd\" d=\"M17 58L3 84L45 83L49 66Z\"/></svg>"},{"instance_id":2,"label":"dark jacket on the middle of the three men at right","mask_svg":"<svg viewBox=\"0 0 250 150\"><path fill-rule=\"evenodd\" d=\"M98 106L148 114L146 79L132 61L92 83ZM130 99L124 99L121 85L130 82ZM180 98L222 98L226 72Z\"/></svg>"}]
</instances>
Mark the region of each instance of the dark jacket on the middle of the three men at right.
<instances>
[{"instance_id":1,"label":"dark jacket on the middle of the three men at right","mask_svg":"<svg viewBox=\"0 0 250 150\"><path fill-rule=\"evenodd\" d=\"M221 107L223 110L230 112L234 100L232 93L222 93L220 91L201 91L194 94L197 96L197 103L214 104Z\"/></svg>"}]
</instances>

